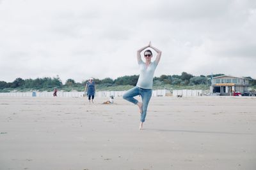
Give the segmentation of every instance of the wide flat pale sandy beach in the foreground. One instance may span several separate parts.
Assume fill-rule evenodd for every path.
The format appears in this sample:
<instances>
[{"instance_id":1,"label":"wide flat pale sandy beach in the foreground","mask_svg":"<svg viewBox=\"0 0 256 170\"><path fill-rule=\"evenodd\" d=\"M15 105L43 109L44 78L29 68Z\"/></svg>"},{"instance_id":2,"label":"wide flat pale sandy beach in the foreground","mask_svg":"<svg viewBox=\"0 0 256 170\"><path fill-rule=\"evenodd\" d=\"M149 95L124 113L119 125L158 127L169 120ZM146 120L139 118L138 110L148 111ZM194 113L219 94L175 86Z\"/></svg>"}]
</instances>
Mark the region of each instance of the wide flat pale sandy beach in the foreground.
<instances>
[{"instance_id":1,"label":"wide flat pale sandy beach in the foreground","mask_svg":"<svg viewBox=\"0 0 256 170\"><path fill-rule=\"evenodd\" d=\"M256 169L256 97L0 97L0 169Z\"/></svg>"}]
</instances>

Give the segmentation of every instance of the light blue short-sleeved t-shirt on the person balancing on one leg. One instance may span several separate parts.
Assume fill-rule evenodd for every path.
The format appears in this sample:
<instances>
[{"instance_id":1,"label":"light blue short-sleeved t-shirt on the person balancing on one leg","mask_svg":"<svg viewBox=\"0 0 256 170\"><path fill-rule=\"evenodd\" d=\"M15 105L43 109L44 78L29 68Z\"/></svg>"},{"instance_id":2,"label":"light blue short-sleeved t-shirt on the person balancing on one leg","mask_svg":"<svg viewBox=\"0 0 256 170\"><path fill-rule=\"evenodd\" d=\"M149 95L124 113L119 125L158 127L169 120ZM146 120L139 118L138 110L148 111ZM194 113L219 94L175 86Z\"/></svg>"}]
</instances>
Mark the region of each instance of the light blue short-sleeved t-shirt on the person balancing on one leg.
<instances>
[{"instance_id":1,"label":"light blue short-sleeved t-shirt on the person balancing on one leg","mask_svg":"<svg viewBox=\"0 0 256 170\"><path fill-rule=\"evenodd\" d=\"M152 89L154 72L157 66L156 62L151 62L150 65L146 67L146 63L141 60L141 62L139 62L139 66L140 76L136 86L142 89Z\"/></svg>"}]
</instances>

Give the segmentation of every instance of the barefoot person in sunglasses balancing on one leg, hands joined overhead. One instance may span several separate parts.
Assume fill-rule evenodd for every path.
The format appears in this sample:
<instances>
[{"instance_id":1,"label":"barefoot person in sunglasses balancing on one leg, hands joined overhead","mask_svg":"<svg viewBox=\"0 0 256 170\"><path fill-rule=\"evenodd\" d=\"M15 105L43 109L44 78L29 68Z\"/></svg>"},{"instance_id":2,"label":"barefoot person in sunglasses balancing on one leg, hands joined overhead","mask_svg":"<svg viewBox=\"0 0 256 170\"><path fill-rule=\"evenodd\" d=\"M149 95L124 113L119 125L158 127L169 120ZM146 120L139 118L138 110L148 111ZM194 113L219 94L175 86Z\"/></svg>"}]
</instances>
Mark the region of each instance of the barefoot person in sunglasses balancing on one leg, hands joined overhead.
<instances>
[{"instance_id":1,"label":"barefoot person in sunglasses balancing on one leg, hands joined overhead","mask_svg":"<svg viewBox=\"0 0 256 170\"><path fill-rule=\"evenodd\" d=\"M153 53L151 52L151 50L145 50L146 48L152 48L156 51L157 56L153 62L151 62ZM145 50L145 62L143 62L143 60L141 59L141 52L143 50ZM136 87L125 92L123 96L125 100L138 105L141 113L140 129L143 129L143 122L145 122L145 118L147 115L148 103L152 96L154 72L159 60L161 59L161 54L162 52L160 50L151 45L151 41L147 46L144 46L137 51L137 60L140 67L140 76ZM134 97L138 95L141 96L142 103L139 102L137 99L134 99Z\"/></svg>"}]
</instances>

